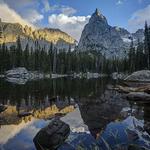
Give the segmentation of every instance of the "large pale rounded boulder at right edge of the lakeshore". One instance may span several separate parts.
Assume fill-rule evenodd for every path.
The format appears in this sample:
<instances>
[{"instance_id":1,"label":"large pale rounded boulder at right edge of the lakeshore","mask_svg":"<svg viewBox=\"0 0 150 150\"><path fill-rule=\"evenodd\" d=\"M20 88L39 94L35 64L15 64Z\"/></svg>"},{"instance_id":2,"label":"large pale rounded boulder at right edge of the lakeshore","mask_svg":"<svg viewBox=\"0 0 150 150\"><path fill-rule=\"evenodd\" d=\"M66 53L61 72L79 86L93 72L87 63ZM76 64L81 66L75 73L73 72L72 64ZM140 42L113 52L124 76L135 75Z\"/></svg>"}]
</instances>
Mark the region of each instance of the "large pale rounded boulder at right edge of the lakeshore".
<instances>
[{"instance_id":1,"label":"large pale rounded boulder at right edge of the lakeshore","mask_svg":"<svg viewBox=\"0 0 150 150\"><path fill-rule=\"evenodd\" d=\"M132 73L127 78L126 81L150 81L150 70L140 70Z\"/></svg>"}]
</instances>

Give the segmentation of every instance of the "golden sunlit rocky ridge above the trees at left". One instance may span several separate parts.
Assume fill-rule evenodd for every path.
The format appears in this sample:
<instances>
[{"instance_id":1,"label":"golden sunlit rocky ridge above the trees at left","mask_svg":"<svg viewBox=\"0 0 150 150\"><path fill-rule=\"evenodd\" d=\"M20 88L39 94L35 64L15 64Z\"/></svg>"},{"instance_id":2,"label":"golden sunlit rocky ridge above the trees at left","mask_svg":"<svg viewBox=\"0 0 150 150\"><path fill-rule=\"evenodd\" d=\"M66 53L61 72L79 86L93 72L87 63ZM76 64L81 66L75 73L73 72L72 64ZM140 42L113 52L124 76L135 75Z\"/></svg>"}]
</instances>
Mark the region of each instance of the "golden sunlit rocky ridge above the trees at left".
<instances>
[{"instance_id":1,"label":"golden sunlit rocky ridge above the trees at left","mask_svg":"<svg viewBox=\"0 0 150 150\"><path fill-rule=\"evenodd\" d=\"M59 29L34 30L28 26L23 27L19 23L6 23L0 20L0 44L4 42L7 46L15 44L18 36L21 38L23 48L27 43L29 47L34 48L35 41L45 49L49 48L51 42L59 49L68 48L69 46L74 47L76 43L75 39Z\"/></svg>"}]
</instances>

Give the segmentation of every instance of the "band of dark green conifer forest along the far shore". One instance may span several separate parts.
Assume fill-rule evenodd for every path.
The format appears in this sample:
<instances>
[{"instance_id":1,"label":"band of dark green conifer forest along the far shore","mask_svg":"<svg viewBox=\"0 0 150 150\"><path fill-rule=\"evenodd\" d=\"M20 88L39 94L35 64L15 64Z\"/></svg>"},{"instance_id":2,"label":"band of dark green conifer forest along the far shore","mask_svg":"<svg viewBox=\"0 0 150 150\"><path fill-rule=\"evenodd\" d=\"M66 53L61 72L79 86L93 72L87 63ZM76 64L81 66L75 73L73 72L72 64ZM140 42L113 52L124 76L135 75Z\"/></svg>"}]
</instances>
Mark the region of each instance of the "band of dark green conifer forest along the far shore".
<instances>
[{"instance_id":1,"label":"band of dark green conifer forest along the far shore","mask_svg":"<svg viewBox=\"0 0 150 150\"><path fill-rule=\"evenodd\" d=\"M9 49L3 43L0 46L0 70L1 73L15 67L26 67L28 70L50 73L73 73L73 72L133 72L141 69L150 69L150 27L145 23L145 40L135 46L132 39L130 49L123 58L107 58L100 51L74 51L69 49L57 49L51 43L49 50L41 48L35 42L35 49L26 45L22 49L20 38L17 46Z\"/></svg>"}]
</instances>

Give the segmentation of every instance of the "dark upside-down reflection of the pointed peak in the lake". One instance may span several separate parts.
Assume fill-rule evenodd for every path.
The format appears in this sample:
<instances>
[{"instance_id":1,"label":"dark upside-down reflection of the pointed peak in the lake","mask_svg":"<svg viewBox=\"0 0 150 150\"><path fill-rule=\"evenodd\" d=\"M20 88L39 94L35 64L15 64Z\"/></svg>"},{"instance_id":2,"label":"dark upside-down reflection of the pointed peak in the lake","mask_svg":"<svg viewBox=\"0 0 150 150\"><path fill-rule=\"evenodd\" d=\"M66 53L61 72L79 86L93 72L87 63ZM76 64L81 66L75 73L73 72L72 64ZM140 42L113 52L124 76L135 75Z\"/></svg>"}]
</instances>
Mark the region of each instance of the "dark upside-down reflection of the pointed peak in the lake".
<instances>
[{"instance_id":1,"label":"dark upside-down reflection of the pointed peak in the lake","mask_svg":"<svg viewBox=\"0 0 150 150\"><path fill-rule=\"evenodd\" d=\"M81 98L81 116L91 134L96 137L112 121L120 119L120 112L128 102L121 99L115 91L105 90L100 97Z\"/></svg>"}]
</instances>

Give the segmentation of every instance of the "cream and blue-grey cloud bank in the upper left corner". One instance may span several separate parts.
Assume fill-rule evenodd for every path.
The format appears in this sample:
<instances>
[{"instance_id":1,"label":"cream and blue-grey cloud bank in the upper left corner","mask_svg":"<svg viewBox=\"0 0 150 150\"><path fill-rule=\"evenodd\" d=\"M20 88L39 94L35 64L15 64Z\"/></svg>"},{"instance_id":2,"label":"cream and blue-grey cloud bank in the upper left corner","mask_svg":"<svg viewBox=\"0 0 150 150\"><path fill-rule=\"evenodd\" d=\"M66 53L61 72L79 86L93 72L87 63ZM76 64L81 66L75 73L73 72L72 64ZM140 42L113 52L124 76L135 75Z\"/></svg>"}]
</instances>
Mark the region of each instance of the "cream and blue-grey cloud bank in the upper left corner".
<instances>
[{"instance_id":1,"label":"cream and blue-grey cloud bank in the upper left corner","mask_svg":"<svg viewBox=\"0 0 150 150\"><path fill-rule=\"evenodd\" d=\"M44 16L40 14L35 8L33 8L34 2L35 5L38 4L35 0L5 0L5 2L3 0L0 0L0 17L3 21L6 22L17 22L22 24L23 26L29 25L35 27L35 24L38 21L42 20ZM22 11L19 11L19 9L21 10L21 8L26 9L22 9Z\"/></svg>"}]
</instances>

